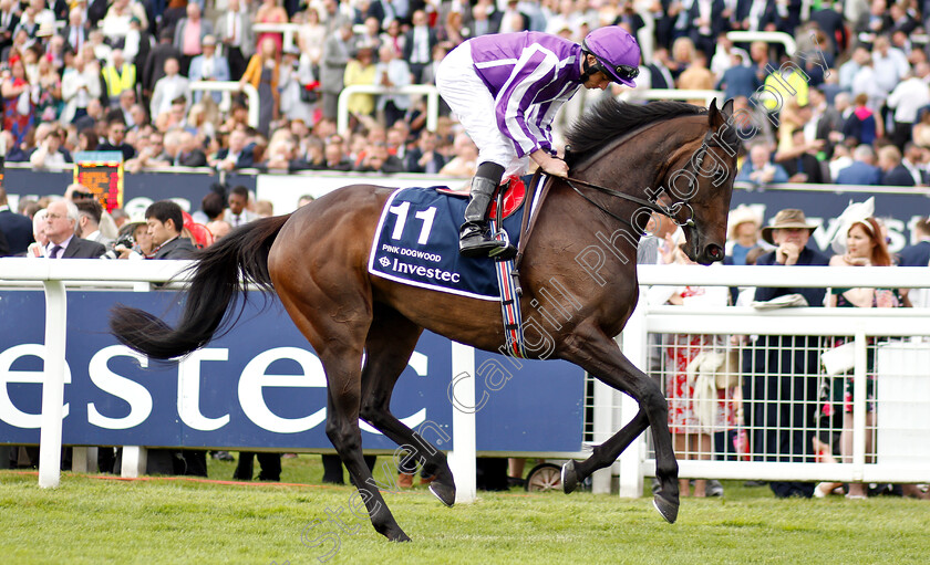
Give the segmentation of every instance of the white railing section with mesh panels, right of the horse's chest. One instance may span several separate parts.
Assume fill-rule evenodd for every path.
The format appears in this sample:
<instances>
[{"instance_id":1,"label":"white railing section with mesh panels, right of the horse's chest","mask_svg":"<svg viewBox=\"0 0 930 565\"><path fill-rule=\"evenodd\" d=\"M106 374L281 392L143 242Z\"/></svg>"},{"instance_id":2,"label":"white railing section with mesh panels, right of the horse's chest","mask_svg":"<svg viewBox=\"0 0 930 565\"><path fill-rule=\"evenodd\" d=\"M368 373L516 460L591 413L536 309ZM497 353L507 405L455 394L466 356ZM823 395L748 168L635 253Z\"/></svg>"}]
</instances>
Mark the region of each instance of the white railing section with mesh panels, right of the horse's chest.
<instances>
[{"instance_id":1,"label":"white railing section with mesh panels, right of the horse's chest","mask_svg":"<svg viewBox=\"0 0 930 565\"><path fill-rule=\"evenodd\" d=\"M822 266L641 266L640 284L703 286L790 286L790 287L882 287L906 289L927 286L927 268L822 268ZM852 457L847 463L809 461L719 461L679 460L684 478L763 479L781 481L862 481L862 482L928 482L930 457L920 444L930 435L930 368L917 364L930 359L930 310L928 308L782 308L758 311L753 307L684 307L650 306L645 292L629 321L621 338L626 355L639 367L649 366L649 334L665 335L745 335L745 336L851 336L855 343L855 368L851 372ZM813 306L813 305L812 305ZM878 343L876 343L878 339ZM654 347L654 344L653 344ZM823 350L826 350L826 345ZM748 347L751 350L752 347ZM789 352L809 354L812 352ZM819 352L813 352L815 355ZM877 358L880 375L869 367ZM789 373L789 372L786 372ZM783 373L765 375L777 378ZM815 369L802 378L825 377ZM866 425L867 386L869 378L877 384L874 427ZM745 376L744 376L745 377ZM844 377L845 378L845 377ZM903 393L902 393L903 391ZM908 395L907 391L910 391ZM636 414L636 404L604 387L596 388L596 441L604 439L608 430L616 430ZM903 396L902 396L903 395ZM750 400L750 399L746 399ZM807 401L816 404L818 399ZM804 400L785 400L785 408L804 411L814 406L794 406ZM601 410L597 408L600 407ZM610 407L608 414L604 407ZM598 412L600 411L600 420ZM813 422L790 426L799 432L814 432ZM755 431L763 431L760 426ZM790 431L790 430L789 430ZM877 449L867 453L867 432L877 436ZM914 436L921 439L913 442ZM911 441L910 446L907 442ZM906 446L902 447L902 443ZM908 450L909 449L909 450ZM813 454L813 450L808 456ZM753 459L765 459L752 452ZM874 462L867 460L874 457ZM654 460L647 451L647 435L631 446L614 465L620 475L620 494L642 493L642 479L654 473Z\"/></svg>"}]
</instances>

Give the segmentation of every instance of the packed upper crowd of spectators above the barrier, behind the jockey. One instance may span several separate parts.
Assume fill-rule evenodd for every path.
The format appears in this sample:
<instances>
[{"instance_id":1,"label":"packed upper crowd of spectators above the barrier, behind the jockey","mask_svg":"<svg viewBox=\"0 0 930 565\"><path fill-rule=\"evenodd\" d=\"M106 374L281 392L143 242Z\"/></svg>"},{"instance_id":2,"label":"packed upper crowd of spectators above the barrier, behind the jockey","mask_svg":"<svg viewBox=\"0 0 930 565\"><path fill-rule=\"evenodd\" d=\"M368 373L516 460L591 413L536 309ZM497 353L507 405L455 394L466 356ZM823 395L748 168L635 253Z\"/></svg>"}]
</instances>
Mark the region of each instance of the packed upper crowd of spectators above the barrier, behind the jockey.
<instances>
[{"instance_id":1,"label":"packed upper crowd of spectators above the barrier, behind the jockey","mask_svg":"<svg viewBox=\"0 0 930 565\"><path fill-rule=\"evenodd\" d=\"M924 185L922 10L913 0L824 1L803 19L797 0L0 0L2 135L7 160L33 167L101 149L122 151L128 171L471 176L473 163L462 158L469 140L456 138L444 106L436 130L425 132L422 96L355 94L350 129L337 132L340 92L431 84L445 53L478 34L530 30L580 41L617 24L642 45L637 88L720 88L756 114L754 159L741 180ZM734 30L786 32L797 51L734 44L726 39ZM199 81L254 86L255 127L241 93L192 91ZM576 96L557 134L599 95Z\"/></svg>"}]
</instances>

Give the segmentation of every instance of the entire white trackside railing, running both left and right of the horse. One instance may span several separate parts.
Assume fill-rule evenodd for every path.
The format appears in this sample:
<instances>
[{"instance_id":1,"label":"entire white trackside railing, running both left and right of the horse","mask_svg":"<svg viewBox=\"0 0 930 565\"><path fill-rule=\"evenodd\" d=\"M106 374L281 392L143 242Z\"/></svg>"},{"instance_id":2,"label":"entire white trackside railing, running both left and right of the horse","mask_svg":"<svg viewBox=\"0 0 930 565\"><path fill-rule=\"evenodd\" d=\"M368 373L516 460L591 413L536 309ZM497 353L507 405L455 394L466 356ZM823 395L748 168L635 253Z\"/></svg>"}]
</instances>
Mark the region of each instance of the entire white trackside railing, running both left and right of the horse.
<instances>
[{"instance_id":1,"label":"entire white trackside railing, running both left and right of the horse","mask_svg":"<svg viewBox=\"0 0 930 565\"><path fill-rule=\"evenodd\" d=\"M102 281L106 284L136 283L148 290L149 283L167 281L187 264L175 261L43 261L0 259L0 280L23 283L41 282L45 287L45 369L42 396L42 427L39 484L59 483L61 422L64 378L65 284L64 281ZM644 285L705 286L793 286L793 287L921 287L930 281L926 268L764 268L764 266L641 266ZM71 284L70 284L71 285ZM645 295L645 292L641 293ZM769 461L680 461L681 475L720 479L836 480L865 482L930 482L930 369L918 363L930 356L930 342L913 339L930 336L930 310L926 308L784 308L760 312L751 307L689 308L649 306L641 300L623 334L618 338L627 356L640 367L648 366L649 333L719 335L810 335L852 336L855 338L855 399L851 428L854 452L848 463L769 462ZM881 349L867 341L910 338L911 343ZM897 343L897 342L889 342ZM869 352L890 358L897 367L893 378L879 380L877 421L874 432L878 449L867 453L866 387ZM474 366L471 348L454 354L453 375ZM451 375L452 376L452 375ZM474 379L469 379L474 386ZM467 400L464 385L456 395ZM471 391L474 396L474 390ZM600 443L613 435L633 414L631 399L608 387L595 386L593 441ZM454 444L463 449L450 457L461 500L474 498L475 452L474 415L454 411ZM902 444L907 449L902 449ZM869 461L875 456L875 462ZM578 454L580 456L580 453ZM123 474L137 475L145 464L144 448L124 450ZM75 460L86 460L78 450ZM596 492L609 492L612 474L620 477L620 495L642 494L643 478L654 472L654 460L647 449L647 435L640 437L610 470L595 477Z\"/></svg>"}]
</instances>

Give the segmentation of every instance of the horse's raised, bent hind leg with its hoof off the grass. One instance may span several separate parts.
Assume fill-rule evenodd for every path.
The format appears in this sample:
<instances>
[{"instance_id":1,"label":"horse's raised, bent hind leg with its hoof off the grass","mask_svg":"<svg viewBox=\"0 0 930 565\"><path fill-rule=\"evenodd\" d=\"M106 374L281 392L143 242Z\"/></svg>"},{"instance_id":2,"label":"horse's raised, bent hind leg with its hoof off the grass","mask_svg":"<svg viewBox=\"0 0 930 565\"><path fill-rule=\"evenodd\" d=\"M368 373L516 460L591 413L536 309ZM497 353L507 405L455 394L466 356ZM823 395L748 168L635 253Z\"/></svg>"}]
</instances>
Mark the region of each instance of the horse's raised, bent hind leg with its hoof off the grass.
<instances>
[{"instance_id":1,"label":"horse's raised, bent hind leg with its hoof off the grass","mask_svg":"<svg viewBox=\"0 0 930 565\"><path fill-rule=\"evenodd\" d=\"M361 416L391 438L405 451L412 452L435 480L430 490L444 504L455 502L455 481L446 457L420 433L411 430L391 414L391 394L410 360L422 328L393 308L375 304L374 320L365 341L365 367L362 370Z\"/></svg>"}]
</instances>

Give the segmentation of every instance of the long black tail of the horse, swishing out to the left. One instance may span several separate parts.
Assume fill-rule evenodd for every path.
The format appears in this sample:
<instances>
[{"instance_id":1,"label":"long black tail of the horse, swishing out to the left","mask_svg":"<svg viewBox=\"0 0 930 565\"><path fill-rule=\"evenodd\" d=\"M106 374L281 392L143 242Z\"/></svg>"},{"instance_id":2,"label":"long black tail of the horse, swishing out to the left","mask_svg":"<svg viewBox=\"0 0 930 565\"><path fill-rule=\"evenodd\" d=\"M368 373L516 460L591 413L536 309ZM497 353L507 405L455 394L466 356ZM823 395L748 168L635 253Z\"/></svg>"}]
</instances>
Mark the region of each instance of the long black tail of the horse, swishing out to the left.
<instances>
[{"instance_id":1,"label":"long black tail of the horse, swishing out to the left","mask_svg":"<svg viewBox=\"0 0 930 565\"><path fill-rule=\"evenodd\" d=\"M190 268L194 276L176 328L147 312L117 304L111 312L111 333L124 345L156 359L179 357L203 347L220 324L229 328L236 322L238 314L227 316L226 312L236 305L240 290L245 294L248 283L272 289L268 252L289 218L254 221L199 251L195 258L199 261Z\"/></svg>"}]
</instances>

